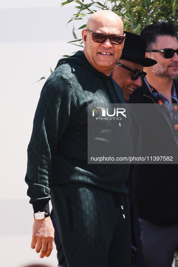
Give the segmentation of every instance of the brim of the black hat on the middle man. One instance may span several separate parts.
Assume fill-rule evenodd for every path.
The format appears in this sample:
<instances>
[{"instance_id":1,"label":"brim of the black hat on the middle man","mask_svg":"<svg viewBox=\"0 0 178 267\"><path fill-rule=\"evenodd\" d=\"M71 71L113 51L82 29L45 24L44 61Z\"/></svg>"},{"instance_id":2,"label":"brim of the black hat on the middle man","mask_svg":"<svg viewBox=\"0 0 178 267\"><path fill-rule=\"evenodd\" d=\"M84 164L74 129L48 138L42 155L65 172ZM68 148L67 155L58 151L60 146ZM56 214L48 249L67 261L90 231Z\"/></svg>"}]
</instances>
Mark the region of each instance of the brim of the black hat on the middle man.
<instances>
[{"instance_id":1,"label":"brim of the black hat on the middle man","mask_svg":"<svg viewBox=\"0 0 178 267\"><path fill-rule=\"evenodd\" d=\"M128 55L128 54L124 54L124 53L122 53L120 59L124 59L124 60L128 60L128 61L132 61L132 62L141 64L141 65L143 65L143 67L151 67L151 66L157 64L157 61L154 59L135 57L133 55Z\"/></svg>"}]
</instances>

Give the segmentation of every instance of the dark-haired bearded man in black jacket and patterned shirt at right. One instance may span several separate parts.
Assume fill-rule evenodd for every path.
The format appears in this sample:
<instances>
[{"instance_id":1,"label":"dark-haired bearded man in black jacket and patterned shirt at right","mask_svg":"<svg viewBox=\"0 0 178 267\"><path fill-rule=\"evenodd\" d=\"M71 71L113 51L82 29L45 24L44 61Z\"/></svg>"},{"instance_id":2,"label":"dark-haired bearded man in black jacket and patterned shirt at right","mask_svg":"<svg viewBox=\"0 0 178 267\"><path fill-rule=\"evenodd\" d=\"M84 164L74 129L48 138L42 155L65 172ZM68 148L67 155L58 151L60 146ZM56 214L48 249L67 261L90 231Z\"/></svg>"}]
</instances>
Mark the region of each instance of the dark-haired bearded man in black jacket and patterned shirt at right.
<instances>
[{"instance_id":1,"label":"dark-haired bearded man in black jacket and patterned shirt at right","mask_svg":"<svg viewBox=\"0 0 178 267\"><path fill-rule=\"evenodd\" d=\"M151 24L140 36L147 40L145 56L158 63L144 68L147 75L129 102L152 104L154 116L146 108L138 118L143 139L147 136L147 146L157 153L153 156L167 156L161 151L178 155L178 82L173 80L178 76L176 28L166 23ZM171 267L178 245L177 165L159 163L164 164L139 165L138 215L145 263L148 267Z\"/></svg>"}]
</instances>

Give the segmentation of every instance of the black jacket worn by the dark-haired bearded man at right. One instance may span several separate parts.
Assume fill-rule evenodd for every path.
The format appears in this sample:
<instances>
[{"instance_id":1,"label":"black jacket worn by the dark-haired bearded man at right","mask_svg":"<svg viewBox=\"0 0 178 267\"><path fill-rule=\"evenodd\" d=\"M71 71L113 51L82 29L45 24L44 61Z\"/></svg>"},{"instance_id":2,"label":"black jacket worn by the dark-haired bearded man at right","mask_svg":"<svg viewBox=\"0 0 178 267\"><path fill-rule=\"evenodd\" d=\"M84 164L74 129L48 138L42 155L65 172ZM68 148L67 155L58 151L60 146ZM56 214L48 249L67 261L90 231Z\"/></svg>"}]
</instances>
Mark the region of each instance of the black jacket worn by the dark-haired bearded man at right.
<instances>
[{"instance_id":1,"label":"black jacket worn by the dark-haired bearded man at right","mask_svg":"<svg viewBox=\"0 0 178 267\"><path fill-rule=\"evenodd\" d=\"M173 81L178 96L178 82ZM130 103L152 103L154 100L145 81L136 89L129 99ZM149 136L147 143L151 149L152 140L156 140L156 150L166 148L173 155L178 155L178 145L172 127L167 119L152 105L153 112L145 109L142 117L138 117L142 130L142 138ZM145 119L146 118L146 119ZM152 123L154 120L154 124ZM167 155L162 155L167 156ZM140 164L137 178L138 215L143 220L157 225L178 225L178 179L176 164Z\"/></svg>"}]
</instances>

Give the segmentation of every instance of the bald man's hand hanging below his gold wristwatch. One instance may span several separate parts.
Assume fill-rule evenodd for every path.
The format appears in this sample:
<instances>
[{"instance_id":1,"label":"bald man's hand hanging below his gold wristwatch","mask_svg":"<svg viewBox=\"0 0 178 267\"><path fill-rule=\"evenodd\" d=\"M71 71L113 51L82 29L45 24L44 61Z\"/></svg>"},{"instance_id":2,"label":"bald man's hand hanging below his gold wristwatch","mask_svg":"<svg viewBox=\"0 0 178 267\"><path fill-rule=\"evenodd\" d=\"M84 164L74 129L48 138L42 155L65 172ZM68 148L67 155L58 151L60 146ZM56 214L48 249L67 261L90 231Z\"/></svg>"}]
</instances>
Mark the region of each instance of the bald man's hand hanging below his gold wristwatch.
<instances>
[{"instance_id":1,"label":"bald man's hand hanging below his gold wristwatch","mask_svg":"<svg viewBox=\"0 0 178 267\"><path fill-rule=\"evenodd\" d=\"M50 217L34 221L31 248L36 247L36 253L41 250L40 258L49 257L53 249L54 237L55 230Z\"/></svg>"}]
</instances>

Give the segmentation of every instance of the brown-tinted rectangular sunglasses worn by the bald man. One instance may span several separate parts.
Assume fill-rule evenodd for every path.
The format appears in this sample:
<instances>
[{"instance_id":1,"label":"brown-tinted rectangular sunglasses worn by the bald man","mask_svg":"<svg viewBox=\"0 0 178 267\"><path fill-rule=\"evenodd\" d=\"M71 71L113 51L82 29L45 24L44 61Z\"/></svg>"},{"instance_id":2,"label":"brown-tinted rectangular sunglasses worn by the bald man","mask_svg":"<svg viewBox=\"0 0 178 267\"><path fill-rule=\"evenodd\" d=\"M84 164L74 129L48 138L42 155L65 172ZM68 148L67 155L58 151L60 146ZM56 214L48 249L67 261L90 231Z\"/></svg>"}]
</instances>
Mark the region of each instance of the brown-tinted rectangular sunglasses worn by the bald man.
<instances>
[{"instance_id":1,"label":"brown-tinted rectangular sunglasses worn by the bald man","mask_svg":"<svg viewBox=\"0 0 178 267\"><path fill-rule=\"evenodd\" d=\"M108 38L113 45L121 45L123 40L126 36L124 35L117 35L117 34L105 34L105 33L93 33L90 30L86 29L92 35L93 41L97 43L104 43Z\"/></svg>"}]
</instances>

